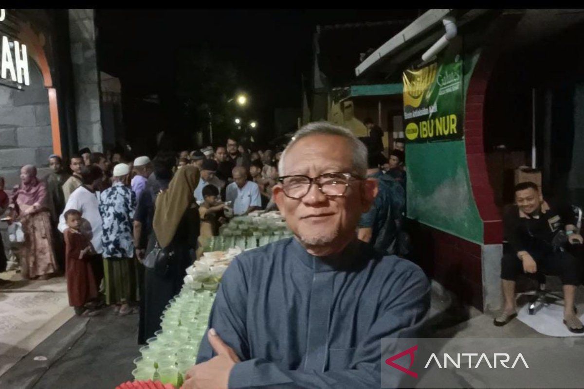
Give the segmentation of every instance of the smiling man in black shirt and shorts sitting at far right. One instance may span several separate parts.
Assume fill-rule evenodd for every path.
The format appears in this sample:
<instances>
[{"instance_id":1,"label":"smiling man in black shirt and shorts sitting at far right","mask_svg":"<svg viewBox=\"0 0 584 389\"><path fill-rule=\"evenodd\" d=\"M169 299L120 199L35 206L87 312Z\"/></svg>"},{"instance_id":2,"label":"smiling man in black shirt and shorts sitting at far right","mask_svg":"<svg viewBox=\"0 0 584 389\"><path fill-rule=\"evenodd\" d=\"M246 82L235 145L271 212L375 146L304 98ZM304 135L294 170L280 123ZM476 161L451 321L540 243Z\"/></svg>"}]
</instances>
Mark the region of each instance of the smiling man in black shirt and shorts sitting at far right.
<instances>
[{"instance_id":1,"label":"smiling man in black shirt and shorts sitting at far right","mask_svg":"<svg viewBox=\"0 0 584 389\"><path fill-rule=\"evenodd\" d=\"M517 316L517 275L522 272L534 274L541 268L561 278L564 285L564 324L568 330L584 332L584 326L574 310L576 288L582 276L580 258L562 248L565 243L582 244L583 241L576 229L571 208L550 206L534 183L517 184L515 202L516 205L503 218L505 238L509 244L509 252L503 255L501 261L505 306L494 324L505 325Z\"/></svg>"}]
</instances>

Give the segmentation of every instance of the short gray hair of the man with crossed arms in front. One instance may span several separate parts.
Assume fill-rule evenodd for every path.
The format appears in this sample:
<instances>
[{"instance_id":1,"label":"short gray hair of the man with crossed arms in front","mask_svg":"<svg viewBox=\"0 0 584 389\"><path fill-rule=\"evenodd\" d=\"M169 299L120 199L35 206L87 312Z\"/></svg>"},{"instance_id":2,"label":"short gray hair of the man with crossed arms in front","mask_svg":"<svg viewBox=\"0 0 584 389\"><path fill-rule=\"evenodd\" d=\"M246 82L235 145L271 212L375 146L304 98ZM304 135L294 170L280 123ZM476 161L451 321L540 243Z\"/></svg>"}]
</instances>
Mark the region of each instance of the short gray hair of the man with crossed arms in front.
<instances>
[{"instance_id":1,"label":"short gray hair of the man with crossed arms in front","mask_svg":"<svg viewBox=\"0 0 584 389\"><path fill-rule=\"evenodd\" d=\"M349 141L350 148L353 150L353 173L360 177L367 176L367 146L365 146L365 144L361 142L359 138L350 131L350 129L333 125L326 121L308 123L296 131L296 134L294 134L292 140L288 143L286 149L284 149L284 152L280 156L280 162L278 163L280 176L285 175L284 159L286 158L288 150L300 141L300 139L319 134L342 136Z\"/></svg>"}]
</instances>

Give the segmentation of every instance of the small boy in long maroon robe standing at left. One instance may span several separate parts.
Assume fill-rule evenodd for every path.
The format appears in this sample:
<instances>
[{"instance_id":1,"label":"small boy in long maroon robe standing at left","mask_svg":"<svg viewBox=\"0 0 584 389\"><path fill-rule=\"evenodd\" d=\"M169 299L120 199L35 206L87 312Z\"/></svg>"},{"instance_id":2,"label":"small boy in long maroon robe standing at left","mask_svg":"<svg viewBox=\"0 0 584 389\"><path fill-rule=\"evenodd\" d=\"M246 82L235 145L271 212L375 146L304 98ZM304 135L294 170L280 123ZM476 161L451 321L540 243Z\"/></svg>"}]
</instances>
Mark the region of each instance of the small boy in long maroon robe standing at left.
<instances>
[{"instance_id":1,"label":"small boy in long maroon robe standing at left","mask_svg":"<svg viewBox=\"0 0 584 389\"><path fill-rule=\"evenodd\" d=\"M98 310L85 309L85 304L98 297L98 287L88 261L93 251L88 237L81 233L81 212L69 209L65 212L68 228L65 237L65 268L67 275L67 295L69 305L74 307L77 316L95 316Z\"/></svg>"}]
</instances>

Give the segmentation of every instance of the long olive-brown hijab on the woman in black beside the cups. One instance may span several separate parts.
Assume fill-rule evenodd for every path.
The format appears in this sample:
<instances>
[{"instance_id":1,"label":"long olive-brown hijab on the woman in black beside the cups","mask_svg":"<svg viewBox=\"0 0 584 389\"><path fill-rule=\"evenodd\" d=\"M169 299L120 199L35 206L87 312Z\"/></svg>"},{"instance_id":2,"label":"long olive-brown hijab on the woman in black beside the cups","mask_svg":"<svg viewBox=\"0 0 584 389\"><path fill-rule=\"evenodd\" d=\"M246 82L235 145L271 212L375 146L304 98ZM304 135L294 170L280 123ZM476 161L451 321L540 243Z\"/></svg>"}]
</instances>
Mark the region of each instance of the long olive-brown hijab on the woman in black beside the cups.
<instances>
[{"instance_id":1,"label":"long olive-brown hijab on the woman in black beside the cups","mask_svg":"<svg viewBox=\"0 0 584 389\"><path fill-rule=\"evenodd\" d=\"M194 202L194 190L199 184L199 169L183 166L172 177L168 190L158 195L154 211L154 233L161 247L171 244L180 220Z\"/></svg>"}]
</instances>

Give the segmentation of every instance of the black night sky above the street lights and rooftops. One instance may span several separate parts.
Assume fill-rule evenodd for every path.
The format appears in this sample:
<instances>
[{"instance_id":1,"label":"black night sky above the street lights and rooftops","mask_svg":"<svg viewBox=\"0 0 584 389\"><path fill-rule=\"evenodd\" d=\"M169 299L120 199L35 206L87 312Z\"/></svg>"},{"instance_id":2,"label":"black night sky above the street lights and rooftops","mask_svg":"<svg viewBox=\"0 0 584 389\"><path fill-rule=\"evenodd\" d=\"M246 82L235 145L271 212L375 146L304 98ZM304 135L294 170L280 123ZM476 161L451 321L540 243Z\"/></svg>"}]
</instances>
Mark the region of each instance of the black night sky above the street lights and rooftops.
<instances>
[{"instance_id":1,"label":"black night sky above the street lights and rooftops","mask_svg":"<svg viewBox=\"0 0 584 389\"><path fill-rule=\"evenodd\" d=\"M126 92L172 93L175 54L206 45L234 64L250 110L273 122L301 103L317 24L415 19L418 10L98 10L98 61ZM356 37L357 38L357 37Z\"/></svg>"}]
</instances>

